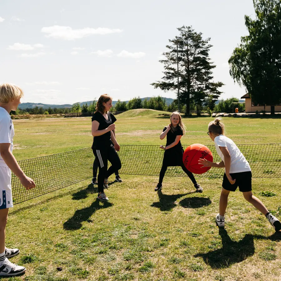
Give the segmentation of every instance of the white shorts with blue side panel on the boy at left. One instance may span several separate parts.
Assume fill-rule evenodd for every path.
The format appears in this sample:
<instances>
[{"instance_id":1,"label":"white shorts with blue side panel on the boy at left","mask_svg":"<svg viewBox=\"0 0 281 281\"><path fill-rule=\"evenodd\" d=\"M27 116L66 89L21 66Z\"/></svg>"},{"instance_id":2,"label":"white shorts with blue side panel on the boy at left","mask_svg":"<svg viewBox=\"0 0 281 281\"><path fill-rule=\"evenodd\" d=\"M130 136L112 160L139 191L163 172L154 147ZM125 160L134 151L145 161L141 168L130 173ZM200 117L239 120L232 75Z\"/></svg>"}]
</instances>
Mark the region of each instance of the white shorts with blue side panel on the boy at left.
<instances>
[{"instance_id":1,"label":"white shorts with blue side panel on the boy at left","mask_svg":"<svg viewBox=\"0 0 281 281\"><path fill-rule=\"evenodd\" d=\"M0 209L13 207L11 179L10 168L0 167Z\"/></svg>"}]
</instances>

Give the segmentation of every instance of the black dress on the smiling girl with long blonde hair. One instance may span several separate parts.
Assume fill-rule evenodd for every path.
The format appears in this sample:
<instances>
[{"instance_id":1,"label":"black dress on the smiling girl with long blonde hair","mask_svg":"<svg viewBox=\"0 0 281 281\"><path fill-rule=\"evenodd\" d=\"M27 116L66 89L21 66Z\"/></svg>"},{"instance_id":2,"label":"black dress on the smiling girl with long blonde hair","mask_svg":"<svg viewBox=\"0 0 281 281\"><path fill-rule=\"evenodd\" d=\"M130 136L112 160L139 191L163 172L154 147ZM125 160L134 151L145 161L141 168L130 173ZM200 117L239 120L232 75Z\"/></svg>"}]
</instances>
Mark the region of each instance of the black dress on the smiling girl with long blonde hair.
<instances>
[{"instance_id":1,"label":"black dress on the smiling girl with long blonde hair","mask_svg":"<svg viewBox=\"0 0 281 281\"><path fill-rule=\"evenodd\" d=\"M163 129L163 132L167 129L165 127ZM174 128L175 131L172 132L171 130L167 133L167 143L166 146L173 143L176 139L176 136L183 136L182 129L177 126ZM181 142L179 141L177 145L165 150L164 152L164 158L163 158L163 166L181 166L183 164L182 156L183 156L183 147L181 145Z\"/></svg>"}]
</instances>

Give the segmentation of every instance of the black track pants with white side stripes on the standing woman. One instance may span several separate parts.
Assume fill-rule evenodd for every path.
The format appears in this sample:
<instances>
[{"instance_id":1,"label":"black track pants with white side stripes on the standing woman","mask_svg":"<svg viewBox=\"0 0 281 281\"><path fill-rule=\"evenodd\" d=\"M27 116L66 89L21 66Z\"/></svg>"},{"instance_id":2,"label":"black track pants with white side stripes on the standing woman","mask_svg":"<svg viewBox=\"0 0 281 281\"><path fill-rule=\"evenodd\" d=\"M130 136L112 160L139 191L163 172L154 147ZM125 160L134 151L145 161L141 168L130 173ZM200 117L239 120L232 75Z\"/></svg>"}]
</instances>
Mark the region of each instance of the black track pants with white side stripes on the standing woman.
<instances>
[{"instance_id":1,"label":"black track pants with white side stripes on the standing woman","mask_svg":"<svg viewBox=\"0 0 281 281\"><path fill-rule=\"evenodd\" d=\"M108 178L115 171L121 169L121 161L113 145L102 149L96 149L95 147L93 147L93 152L94 155L96 156L96 159L98 160L98 166L99 166L99 175L97 179L98 191L103 192L104 179ZM107 161L111 163L111 166L109 167L108 170L107 170Z\"/></svg>"}]
</instances>

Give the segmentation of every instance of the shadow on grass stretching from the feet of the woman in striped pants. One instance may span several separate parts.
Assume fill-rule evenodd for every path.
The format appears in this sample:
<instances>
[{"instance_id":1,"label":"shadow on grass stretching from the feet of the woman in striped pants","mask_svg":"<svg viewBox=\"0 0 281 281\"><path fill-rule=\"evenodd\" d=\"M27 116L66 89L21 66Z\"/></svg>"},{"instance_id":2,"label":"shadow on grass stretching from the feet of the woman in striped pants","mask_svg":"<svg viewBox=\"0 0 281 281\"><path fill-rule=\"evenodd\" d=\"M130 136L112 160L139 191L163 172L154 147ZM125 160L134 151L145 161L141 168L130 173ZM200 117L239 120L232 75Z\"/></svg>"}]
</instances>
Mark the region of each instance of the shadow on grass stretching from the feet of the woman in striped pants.
<instances>
[{"instance_id":1,"label":"shadow on grass stretching from the feet of the woman in striped pants","mask_svg":"<svg viewBox=\"0 0 281 281\"><path fill-rule=\"evenodd\" d=\"M113 204L109 202L101 202L100 200L96 200L91 204L91 206L81 210L76 210L74 215L63 224L63 229L65 230L80 229L82 227L83 221L92 222L92 220L90 220L89 218L97 210L108 208L111 206L113 206Z\"/></svg>"}]
</instances>

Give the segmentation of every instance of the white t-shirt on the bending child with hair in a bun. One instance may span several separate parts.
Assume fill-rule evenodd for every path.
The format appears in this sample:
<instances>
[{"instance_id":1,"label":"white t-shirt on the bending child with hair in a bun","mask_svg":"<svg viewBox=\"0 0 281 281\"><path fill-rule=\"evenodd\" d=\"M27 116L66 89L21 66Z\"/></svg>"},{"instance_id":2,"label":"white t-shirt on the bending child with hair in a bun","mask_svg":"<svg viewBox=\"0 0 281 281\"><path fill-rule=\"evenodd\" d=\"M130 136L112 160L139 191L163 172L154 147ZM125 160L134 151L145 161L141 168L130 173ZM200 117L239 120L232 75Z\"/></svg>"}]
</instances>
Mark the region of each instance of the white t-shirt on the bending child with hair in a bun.
<instances>
[{"instance_id":1,"label":"white t-shirt on the bending child with hair in a bun","mask_svg":"<svg viewBox=\"0 0 281 281\"><path fill-rule=\"evenodd\" d=\"M241 153L237 145L228 137L219 135L214 138L217 153L221 160L224 161L224 155L222 154L219 146L227 147L230 154L230 170L229 173L241 173L251 171L250 165L244 155Z\"/></svg>"}]
</instances>

